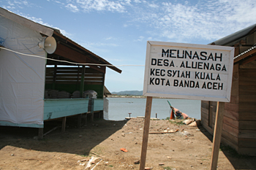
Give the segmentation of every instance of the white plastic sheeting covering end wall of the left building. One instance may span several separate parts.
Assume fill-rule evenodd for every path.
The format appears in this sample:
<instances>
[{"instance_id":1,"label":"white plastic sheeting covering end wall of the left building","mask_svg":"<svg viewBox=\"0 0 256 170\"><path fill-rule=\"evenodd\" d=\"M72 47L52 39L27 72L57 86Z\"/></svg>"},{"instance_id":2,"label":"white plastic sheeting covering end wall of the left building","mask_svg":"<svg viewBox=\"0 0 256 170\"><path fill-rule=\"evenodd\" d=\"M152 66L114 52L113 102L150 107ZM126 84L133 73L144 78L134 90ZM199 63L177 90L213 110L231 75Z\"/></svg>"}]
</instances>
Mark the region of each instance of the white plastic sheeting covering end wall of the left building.
<instances>
[{"instance_id":1,"label":"white plastic sheeting covering end wall of the left building","mask_svg":"<svg viewBox=\"0 0 256 170\"><path fill-rule=\"evenodd\" d=\"M37 44L39 32L0 16L0 37L4 47L46 57ZM43 124L45 59L0 50L0 121Z\"/></svg>"}]
</instances>

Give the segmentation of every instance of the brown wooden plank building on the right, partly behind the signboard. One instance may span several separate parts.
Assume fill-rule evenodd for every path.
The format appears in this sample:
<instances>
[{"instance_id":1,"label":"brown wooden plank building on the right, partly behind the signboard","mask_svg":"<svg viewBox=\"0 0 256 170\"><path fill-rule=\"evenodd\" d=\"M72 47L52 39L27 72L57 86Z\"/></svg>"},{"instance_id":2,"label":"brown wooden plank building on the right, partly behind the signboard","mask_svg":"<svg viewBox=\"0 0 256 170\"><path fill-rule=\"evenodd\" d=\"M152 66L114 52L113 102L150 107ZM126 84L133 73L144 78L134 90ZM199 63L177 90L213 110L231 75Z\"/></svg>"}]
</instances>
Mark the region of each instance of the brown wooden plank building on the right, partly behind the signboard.
<instances>
[{"instance_id":1,"label":"brown wooden plank building on the right, partly behind the signboard","mask_svg":"<svg viewBox=\"0 0 256 170\"><path fill-rule=\"evenodd\" d=\"M256 24L211 45L235 47L231 98L225 103L222 143L256 156ZM214 132L217 102L201 101L201 122Z\"/></svg>"}]
</instances>

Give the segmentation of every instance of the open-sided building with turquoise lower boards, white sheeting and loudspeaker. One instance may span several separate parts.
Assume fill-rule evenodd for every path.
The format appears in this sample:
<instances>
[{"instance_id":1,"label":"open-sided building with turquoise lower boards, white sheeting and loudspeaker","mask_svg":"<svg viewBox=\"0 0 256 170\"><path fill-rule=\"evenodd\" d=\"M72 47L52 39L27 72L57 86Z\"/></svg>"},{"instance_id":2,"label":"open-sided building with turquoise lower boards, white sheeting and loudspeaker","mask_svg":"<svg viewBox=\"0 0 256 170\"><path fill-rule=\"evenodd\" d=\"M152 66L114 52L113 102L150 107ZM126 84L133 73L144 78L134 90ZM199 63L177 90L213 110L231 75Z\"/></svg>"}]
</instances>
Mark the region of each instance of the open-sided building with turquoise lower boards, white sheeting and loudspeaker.
<instances>
[{"instance_id":1,"label":"open-sided building with turquoise lower boards, white sheeting and loudspeaker","mask_svg":"<svg viewBox=\"0 0 256 170\"><path fill-rule=\"evenodd\" d=\"M38 46L56 39L49 54ZM55 28L42 26L0 8L0 125L39 128L44 121L103 110L104 58L78 45ZM86 90L97 92L93 108Z\"/></svg>"}]
</instances>

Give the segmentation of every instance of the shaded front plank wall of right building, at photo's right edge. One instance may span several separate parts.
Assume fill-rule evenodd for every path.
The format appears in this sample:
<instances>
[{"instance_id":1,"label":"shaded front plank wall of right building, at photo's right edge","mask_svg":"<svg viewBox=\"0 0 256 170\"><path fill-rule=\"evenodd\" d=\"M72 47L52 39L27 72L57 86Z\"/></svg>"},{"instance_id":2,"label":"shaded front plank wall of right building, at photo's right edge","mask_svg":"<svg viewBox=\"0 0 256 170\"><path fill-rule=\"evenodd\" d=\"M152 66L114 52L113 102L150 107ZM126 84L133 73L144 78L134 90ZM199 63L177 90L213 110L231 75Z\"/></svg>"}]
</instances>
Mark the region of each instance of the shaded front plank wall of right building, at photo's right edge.
<instances>
[{"instance_id":1,"label":"shaded front plank wall of right building, at photo's right edge","mask_svg":"<svg viewBox=\"0 0 256 170\"><path fill-rule=\"evenodd\" d=\"M239 66L238 152L256 156L256 61Z\"/></svg>"}]
</instances>

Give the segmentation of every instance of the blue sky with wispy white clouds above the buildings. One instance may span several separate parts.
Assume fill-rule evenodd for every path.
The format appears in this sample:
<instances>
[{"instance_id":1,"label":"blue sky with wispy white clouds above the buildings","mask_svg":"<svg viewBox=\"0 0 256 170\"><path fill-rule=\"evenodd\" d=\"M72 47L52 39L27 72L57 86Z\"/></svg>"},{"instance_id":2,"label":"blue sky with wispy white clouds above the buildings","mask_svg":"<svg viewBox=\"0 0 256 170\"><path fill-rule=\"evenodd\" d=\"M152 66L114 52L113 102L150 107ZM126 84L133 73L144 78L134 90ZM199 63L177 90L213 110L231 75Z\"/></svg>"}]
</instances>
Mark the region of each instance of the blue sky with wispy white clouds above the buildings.
<instances>
[{"instance_id":1,"label":"blue sky with wispy white clouds above the buildings","mask_svg":"<svg viewBox=\"0 0 256 170\"><path fill-rule=\"evenodd\" d=\"M206 45L256 23L255 0L0 0L8 9L61 33L113 65L144 65L146 42ZM110 90L143 90L144 67L107 69Z\"/></svg>"}]
</instances>

